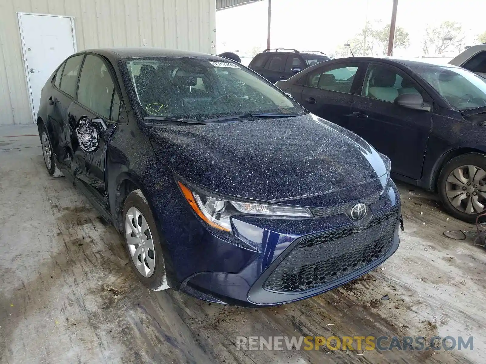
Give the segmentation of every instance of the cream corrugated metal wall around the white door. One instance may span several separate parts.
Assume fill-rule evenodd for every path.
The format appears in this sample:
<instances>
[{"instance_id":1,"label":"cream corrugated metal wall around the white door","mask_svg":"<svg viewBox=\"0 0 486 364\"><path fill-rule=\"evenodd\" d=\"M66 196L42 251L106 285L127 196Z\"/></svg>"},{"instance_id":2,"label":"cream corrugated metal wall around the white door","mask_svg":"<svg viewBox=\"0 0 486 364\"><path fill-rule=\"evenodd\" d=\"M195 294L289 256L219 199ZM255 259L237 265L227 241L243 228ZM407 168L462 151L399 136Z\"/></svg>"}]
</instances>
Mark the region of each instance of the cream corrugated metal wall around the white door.
<instances>
[{"instance_id":1,"label":"cream corrugated metal wall around the white door","mask_svg":"<svg viewBox=\"0 0 486 364\"><path fill-rule=\"evenodd\" d=\"M0 0L0 125L33 122L17 12L74 17L78 50L216 51L215 0Z\"/></svg>"}]
</instances>

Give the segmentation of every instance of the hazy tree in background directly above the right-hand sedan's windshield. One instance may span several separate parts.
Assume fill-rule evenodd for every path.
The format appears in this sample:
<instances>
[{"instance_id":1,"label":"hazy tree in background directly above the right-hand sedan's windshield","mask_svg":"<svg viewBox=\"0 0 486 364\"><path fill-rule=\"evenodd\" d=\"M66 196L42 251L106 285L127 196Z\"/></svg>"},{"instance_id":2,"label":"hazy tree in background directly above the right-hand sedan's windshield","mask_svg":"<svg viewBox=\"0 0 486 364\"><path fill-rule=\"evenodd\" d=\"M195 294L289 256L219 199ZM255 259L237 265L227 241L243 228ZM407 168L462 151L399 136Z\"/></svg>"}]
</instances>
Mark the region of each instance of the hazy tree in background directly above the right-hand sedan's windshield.
<instances>
[{"instance_id":1,"label":"hazy tree in background directly above the right-hand sedan's windshield","mask_svg":"<svg viewBox=\"0 0 486 364\"><path fill-rule=\"evenodd\" d=\"M461 50L464 41L462 25L446 20L438 27L428 27L422 41L424 54L442 54L449 50Z\"/></svg>"}]
</instances>

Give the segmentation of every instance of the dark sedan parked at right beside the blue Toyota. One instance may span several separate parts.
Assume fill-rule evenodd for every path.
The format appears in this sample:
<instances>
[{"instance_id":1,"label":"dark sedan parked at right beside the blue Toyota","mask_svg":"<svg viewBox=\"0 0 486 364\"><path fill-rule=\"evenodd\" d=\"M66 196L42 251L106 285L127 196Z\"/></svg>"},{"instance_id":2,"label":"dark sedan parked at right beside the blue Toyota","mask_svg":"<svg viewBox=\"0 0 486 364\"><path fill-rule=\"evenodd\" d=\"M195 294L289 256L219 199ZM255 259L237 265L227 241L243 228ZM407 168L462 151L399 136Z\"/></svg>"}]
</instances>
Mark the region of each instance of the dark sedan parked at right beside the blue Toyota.
<instances>
[{"instance_id":1,"label":"dark sedan parked at right beside the blue Toyota","mask_svg":"<svg viewBox=\"0 0 486 364\"><path fill-rule=\"evenodd\" d=\"M486 82L456 66L369 57L310 67L277 86L390 157L394 178L438 192L453 216L486 207Z\"/></svg>"}]
</instances>

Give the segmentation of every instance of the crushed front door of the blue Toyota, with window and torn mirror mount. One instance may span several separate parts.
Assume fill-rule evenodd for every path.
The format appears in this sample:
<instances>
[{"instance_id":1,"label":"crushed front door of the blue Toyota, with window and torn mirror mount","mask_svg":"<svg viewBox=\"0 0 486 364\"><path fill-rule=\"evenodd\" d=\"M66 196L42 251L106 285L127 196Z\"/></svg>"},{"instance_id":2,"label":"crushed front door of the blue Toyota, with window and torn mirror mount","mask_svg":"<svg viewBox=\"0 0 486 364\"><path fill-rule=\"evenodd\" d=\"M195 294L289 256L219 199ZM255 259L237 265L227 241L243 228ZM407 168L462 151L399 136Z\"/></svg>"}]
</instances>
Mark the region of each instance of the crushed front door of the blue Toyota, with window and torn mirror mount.
<instances>
[{"instance_id":1,"label":"crushed front door of the blue Toyota, with window and torn mirror mount","mask_svg":"<svg viewBox=\"0 0 486 364\"><path fill-rule=\"evenodd\" d=\"M106 145L120 114L116 78L108 62L88 53L79 77L77 102L70 106L73 158L71 171L107 203L105 189Z\"/></svg>"}]
</instances>

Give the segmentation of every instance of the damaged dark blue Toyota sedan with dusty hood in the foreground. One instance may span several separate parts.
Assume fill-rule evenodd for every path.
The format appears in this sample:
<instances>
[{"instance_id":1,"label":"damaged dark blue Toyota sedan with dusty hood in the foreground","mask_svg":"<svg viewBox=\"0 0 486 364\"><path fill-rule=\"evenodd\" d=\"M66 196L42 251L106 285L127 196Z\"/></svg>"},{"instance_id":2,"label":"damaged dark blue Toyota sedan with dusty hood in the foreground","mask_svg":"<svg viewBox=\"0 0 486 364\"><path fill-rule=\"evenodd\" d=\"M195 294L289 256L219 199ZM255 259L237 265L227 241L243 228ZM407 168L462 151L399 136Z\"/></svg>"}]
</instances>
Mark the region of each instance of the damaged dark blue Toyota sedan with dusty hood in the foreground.
<instances>
[{"instance_id":1,"label":"damaged dark blue Toyota sedan with dusty hood in the foreground","mask_svg":"<svg viewBox=\"0 0 486 364\"><path fill-rule=\"evenodd\" d=\"M398 248L389 159L228 59L77 53L44 86L37 122L48 172L123 234L151 289L275 305Z\"/></svg>"}]
</instances>

